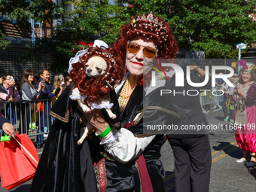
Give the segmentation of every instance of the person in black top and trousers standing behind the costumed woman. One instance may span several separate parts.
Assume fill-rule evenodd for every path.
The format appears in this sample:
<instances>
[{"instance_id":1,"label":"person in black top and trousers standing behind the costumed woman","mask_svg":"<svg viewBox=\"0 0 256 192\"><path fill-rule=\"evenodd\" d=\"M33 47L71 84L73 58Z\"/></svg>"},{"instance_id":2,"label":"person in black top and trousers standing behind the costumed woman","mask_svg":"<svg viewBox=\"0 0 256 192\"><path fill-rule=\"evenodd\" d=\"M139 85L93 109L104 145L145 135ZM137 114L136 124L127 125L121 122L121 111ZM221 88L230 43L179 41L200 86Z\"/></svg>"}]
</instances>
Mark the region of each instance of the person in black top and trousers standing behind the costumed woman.
<instances>
[{"instance_id":1,"label":"person in black top and trousers standing behind the costumed woman","mask_svg":"<svg viewBox=\"0 0 256 192\"><path fill-rule=\"evenodd\" d=\"M186 74L186 59L176 61ZM199 66L190 66L191 81L202 83L205 81L206 72ZM195 75L200 74L200 76ZM172 90L172 103L178 108L190 111L187 117L181 119L178 128L191 125L208 125L200 105L200 90L210 90L212 87L211 76L206 85L192 87L184 79L184 87L175 87L175 75L166 83L166 87ZM187 90L193 90L187 92ZM195 91L197 90L197 92ZM184 94L183 94L184 92ZM202 91L201 91L202 92ZM188 95L188 94L190 95ZM192 96L193 95L193 96ZM175 190L176 192L206 192L209 191L210 171L212 166L211 147L207 130L177 130L168 135L169 144L175 157Z\"/></svg>"}]
</instances>

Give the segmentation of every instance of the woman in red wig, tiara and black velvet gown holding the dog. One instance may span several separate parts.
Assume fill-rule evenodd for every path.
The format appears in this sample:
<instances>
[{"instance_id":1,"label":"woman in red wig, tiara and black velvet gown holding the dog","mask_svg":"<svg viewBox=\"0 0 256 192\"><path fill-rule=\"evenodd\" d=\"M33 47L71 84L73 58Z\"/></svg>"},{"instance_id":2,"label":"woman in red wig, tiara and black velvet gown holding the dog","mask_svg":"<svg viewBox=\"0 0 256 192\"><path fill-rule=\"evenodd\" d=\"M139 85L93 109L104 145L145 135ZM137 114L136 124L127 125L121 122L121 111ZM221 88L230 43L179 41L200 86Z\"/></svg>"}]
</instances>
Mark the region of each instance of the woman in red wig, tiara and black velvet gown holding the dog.
<instances>
[{"instance_id":1,"label":"woman in red wig, tiara and black velvet gown holding the dog","mask_svg":"<svg viewBox=\"0 0 256 192\"><path fill-rule=\"evenodd\" d=\"M31 191L165 191L160 162L165 137L163 133L145 134L143 128L145 124L178 124L180 116L172 111L168 96L156 99L163 87L148 89L143 63L145 59L175 58L178 46L168 23L153 14L143 14L132 17L120 29L113 50L120 50L115 62L120 69L126 66L127 71L120 84L112 85L116 93L111 94L112 111L117 118L109 119L104 110L85 113L69 99L72 88L83 84L82 78L66 87L51 111L60 126L53 123ZM78 66L87 60L86 51L79 54L70 71L75 81ZM96 133L78 146L81 114Z\"/></svg>"}]
</instances>

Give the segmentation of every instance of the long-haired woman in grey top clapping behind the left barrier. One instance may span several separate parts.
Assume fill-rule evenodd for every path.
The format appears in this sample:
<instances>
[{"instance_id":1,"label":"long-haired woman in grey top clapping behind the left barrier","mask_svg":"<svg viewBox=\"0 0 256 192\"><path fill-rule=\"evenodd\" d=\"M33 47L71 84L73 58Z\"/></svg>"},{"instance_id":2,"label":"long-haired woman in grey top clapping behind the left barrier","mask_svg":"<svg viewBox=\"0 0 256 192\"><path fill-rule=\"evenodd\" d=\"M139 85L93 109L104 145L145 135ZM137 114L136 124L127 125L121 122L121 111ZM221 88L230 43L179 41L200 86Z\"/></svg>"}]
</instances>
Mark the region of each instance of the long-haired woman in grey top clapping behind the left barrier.
<instances>
[{"instance_id":1,"label":"long-haired woman in grey top clapping behind the left barrier","mask_svg":"<svg viewBox=\"0 0 256 192\"><path fill-rule=\"evenodd\" d=\"M34 72L29 69L26 69L23 73L23 78L21 81L21 92L22 99L24 101L41 99L44 93L44 83L41 81L38 84L38 89L35 90L35 87L32 85L34 81ZM20 131L21 133L28 133L29 123L32 123L32 111L30 110L31 102L22 102L21 111L22 118L20 119ZM34 106L34 105L33 105Z\"/></svg>"}]
</instances>

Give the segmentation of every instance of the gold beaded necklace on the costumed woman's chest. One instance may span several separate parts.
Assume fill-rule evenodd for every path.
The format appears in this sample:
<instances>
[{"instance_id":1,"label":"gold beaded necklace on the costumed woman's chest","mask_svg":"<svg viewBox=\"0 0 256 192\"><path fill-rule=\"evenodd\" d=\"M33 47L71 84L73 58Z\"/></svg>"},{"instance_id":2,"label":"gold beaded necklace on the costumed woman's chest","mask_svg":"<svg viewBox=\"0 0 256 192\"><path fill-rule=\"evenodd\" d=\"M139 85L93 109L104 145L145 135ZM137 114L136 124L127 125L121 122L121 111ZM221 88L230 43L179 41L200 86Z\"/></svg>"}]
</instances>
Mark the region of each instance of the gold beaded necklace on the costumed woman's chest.
<instances>
[{"instance_id":1,"label":"gold beaded necklace on the costumed woman's chest","mask_svg":"<svg viewBox=\"0 0 256 192\"><path fill-rule=\"evenodd\" d=\"M119 98L118 98L121 116L122 116L123 111L127 105L127 102L130 99L131 94L133 93L133 90L135 89L135 87L134 87L133 90L131 91L131 93L129 93L129 87L130 87L130 82L127 79L125 84L123 85L123 89L121 90L121 92L119 94Z\"/></svg>"}]
</instances>

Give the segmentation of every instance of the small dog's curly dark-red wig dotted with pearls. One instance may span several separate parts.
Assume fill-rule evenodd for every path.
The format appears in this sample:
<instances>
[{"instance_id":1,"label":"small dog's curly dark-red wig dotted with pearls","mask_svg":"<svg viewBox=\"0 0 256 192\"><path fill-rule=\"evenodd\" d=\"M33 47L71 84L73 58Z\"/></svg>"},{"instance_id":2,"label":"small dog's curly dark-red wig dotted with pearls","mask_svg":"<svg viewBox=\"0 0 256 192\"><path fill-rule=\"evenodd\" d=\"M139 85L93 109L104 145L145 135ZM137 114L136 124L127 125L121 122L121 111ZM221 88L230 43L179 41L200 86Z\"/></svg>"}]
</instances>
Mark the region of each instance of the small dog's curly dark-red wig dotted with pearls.
<instances>
[{"instance_id":1,"label":"small dog's curly dark-red wig dotted with pearls","mask_svg":"<svg viewBox=\"0 0 256 192\"><path fill-rule=\"evenodd\" d=\"M88 102L95 102L99 98L106 96L110 92L111 87L122 81L124 74L124 66L121 65L121 57L116 50L105 47L90 47L87 53L80 56L79 61L72 64L70 77L75 82L75 87L87 96ZM86 75L85 64L93 56L100 56L107 62L108 68L105 75L101 78L90 78ZM108 83L106 82L108 81ZM108 85L110 84L111 87Z\"/></svg>"}]
</instances>

